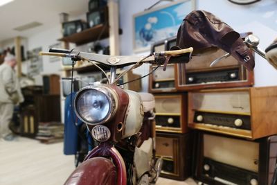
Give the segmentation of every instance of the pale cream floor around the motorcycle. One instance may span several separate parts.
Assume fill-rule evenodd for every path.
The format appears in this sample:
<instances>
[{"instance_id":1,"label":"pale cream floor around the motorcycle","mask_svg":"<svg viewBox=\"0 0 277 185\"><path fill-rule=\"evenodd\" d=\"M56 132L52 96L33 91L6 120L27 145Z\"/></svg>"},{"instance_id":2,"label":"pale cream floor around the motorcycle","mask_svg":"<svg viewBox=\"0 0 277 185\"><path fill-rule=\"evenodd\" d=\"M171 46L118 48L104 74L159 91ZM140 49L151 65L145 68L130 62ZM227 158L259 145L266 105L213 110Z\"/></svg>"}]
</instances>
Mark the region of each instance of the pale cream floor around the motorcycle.
<instances>
[{"instance_id":1,"label":"pale cream floor around the motorcycle","mask_svg":"<svg viewBox=\"0 0 277 185\"><path fill-rule=\"evenodd\" d=\"M63 143L42 144L18 137L0 141L0 185L60 185L74 170L74 157L63 154ZM195 185L159 178L157 185Z\"/></svg>"}]
</instances>

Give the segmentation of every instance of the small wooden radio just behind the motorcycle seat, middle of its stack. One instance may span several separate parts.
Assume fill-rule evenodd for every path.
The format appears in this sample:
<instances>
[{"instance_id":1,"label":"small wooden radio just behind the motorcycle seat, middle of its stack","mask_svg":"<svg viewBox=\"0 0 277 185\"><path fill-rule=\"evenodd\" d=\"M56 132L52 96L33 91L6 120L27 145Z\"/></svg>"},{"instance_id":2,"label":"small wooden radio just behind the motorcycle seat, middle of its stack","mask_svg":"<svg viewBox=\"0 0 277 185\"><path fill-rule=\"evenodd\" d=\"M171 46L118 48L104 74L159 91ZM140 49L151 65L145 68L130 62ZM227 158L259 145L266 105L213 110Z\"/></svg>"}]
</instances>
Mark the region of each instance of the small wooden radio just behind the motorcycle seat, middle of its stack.
<instances>
[{"instance_id":1,"label":"small wooden radio just behind the motorcycle seat, middle of its stack","mask_svg":"<svg viewBox=\"0 0 277 185\"><path fill-rule=\"evenodd\" d=\"M187 94L156 95L156 130L161 132L188 132Z\"/></svg>"}]
</instances>

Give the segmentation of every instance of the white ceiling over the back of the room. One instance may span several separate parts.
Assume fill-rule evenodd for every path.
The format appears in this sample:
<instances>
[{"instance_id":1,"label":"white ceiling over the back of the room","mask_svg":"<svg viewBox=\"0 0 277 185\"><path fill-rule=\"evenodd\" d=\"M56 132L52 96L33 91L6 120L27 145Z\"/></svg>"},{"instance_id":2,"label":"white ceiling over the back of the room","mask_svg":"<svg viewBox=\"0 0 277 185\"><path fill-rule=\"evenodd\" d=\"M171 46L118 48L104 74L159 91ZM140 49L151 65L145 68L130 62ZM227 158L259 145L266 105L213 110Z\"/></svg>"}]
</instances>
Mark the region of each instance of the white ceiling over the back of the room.
<instances>
[{"instance_id":1,"label":"white ceiling over the back of the room","mask_svg":"<svg viewBox=\"0 0 277 185\"><path fill-rule=\"evenodd\" d=\"M14 0L0 6L0 42L12 37L29 37L48 28L60 24L61 12L71 17L78 17L88 11L89 0ZM32 22L41 26L28 30L14 30Z\"/></svg>"}]
</instances>

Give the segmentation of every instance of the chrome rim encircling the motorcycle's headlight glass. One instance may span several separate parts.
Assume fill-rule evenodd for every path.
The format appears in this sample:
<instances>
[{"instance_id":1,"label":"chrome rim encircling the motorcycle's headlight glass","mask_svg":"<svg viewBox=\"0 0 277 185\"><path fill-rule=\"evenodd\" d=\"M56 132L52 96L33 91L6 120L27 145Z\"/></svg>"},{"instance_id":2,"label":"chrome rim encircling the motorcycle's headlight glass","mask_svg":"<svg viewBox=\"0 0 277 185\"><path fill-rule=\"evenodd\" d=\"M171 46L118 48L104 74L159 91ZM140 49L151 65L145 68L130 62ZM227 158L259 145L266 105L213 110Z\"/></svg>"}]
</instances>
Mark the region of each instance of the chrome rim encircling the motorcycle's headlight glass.
<instances>
[{"instance_id":1,"label":"chrome rim encircling the motorcycle's headlight glass","mask_svg":"<svg viewBox=\"0 0 277 185\"><path fill-rule=\"evenodd\" d=\"M102 94L105 94L107 100L109 101L109 112L105 116L105 118L103 118L100 121L95 121L95 122L87 121L78 112L78 109L77 109L78 98L80 97L81 94L84 93L84 91L88 91L88 90L100 91ZM100 125L102 123L109 121L109 119L114 116L114 113L116 112L117 107L118 107L118 98L116 96L116 92L114 92L109 87L105 87L104 85L102 86L89 85L87 87L83 87L76 93L76 96L74 98L74 112L76 116L78 116L78 118L80 118L82 122L87 123L88 125Z\"/></svg>"}]
</instances>

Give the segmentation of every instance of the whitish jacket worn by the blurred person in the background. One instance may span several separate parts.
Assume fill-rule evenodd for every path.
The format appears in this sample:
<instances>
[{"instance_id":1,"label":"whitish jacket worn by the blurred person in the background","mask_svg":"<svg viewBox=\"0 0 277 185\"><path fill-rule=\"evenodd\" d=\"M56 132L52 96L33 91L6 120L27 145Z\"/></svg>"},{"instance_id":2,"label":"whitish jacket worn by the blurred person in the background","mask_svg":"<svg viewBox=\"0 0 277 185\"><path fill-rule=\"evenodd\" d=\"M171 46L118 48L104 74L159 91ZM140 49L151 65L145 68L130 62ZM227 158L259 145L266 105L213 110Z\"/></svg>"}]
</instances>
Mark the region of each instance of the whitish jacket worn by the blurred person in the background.
<instances>
[{"instance_id":1,"label":"whitish jacket worn by the blurred person in the background","mask_svg":"<svg viewBox=\"0 0 277 185\"><path fill-rule=\"evenodd\" d=\"M24 101L15 70L4 62L0 65L0 103L15 103L12 96L18 98L17 103Z\"/></svg>"}]
</instances>

